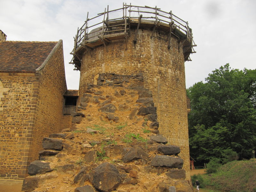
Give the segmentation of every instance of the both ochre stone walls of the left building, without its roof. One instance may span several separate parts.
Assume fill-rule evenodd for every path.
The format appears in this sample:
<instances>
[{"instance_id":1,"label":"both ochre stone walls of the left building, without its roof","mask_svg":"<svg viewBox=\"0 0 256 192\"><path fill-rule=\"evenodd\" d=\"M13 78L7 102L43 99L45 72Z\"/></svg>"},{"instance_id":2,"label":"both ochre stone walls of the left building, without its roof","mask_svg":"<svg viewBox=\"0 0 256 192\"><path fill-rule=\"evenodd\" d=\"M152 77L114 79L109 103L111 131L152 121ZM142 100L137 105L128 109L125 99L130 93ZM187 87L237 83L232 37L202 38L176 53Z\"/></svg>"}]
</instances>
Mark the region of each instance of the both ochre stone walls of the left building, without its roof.
<instances>
[{"instance_id":1,"label":"both ochre stone walls of the left building, without its roof","mask_svg":"<svg viewBox=\"0 0 256 192\"><path fill-rule=\"evenodd\" d=\"M66 90L62 41L37 73L0 73L1 178L25 178L43 137L61 130Z\"/></svg>"}]
</instances>

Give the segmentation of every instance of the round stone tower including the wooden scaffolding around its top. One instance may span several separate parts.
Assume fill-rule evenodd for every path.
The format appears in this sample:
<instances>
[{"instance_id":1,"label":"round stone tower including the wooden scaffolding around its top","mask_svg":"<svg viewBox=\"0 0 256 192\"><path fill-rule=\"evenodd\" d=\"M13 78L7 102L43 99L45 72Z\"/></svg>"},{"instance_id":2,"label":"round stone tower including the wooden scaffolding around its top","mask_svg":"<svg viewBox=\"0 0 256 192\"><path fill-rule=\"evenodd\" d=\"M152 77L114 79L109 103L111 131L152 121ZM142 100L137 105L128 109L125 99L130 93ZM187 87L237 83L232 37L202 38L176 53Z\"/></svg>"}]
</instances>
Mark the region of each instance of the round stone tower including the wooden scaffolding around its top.
<instances>
[{"instance_id":1,"label":"round stone tower including the wooden scaffolding around its top","mask_svg":"<svg viewBox=\"0 0 256 192\"><path fill-rule=\"evenodd\" d=\"M105 9L92 19L87 14L71 53L71 63L80 70L79 95L101 73L143 74L144 87L152 92L157 108L158 130L170 145L180 146L187 179L190 166L184 61L190 60L194 46L188 22L172 12L123 4L117 10Z\"/></svg>"}]
</instances>

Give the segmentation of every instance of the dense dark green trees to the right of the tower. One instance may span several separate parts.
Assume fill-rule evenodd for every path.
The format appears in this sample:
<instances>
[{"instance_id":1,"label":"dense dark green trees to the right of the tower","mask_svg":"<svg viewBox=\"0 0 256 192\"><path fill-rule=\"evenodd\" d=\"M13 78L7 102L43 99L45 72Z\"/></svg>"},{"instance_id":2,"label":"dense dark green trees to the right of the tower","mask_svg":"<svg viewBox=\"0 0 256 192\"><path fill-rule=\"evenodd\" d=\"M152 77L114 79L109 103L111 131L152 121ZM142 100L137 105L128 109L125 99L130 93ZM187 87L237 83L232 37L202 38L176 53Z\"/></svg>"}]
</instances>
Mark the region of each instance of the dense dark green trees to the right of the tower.
<instances>
[{"instance_id":1,"label":"dense dark green trees to the right of the tower","mask_svg":"<svg viewBox=\"0 0 256 192\"><path fill-rule=\"evenodd\" d=\"M256 146L256 69L212 71L188 88L190 154L199 161L224 159L225 150L250 158Z\"/></svg>"}]
</instances>

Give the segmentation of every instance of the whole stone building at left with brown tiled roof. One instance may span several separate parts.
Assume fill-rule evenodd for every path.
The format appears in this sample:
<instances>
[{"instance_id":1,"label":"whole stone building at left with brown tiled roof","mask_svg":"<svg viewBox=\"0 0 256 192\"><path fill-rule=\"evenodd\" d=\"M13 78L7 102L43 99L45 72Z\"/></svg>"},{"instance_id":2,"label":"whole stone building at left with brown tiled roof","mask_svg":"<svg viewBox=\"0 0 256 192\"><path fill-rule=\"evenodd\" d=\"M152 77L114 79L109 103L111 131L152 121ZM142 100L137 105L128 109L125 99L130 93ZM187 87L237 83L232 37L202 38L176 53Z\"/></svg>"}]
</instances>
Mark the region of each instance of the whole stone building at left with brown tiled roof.
<instances>
[{"instance_id":1,"label":"whole stone building at left with brown tiled roof","mask_svg":"<svg viewBox=\"0 0 256 192\"><path fill-rule=\"evenodd\" d=\"M25 178L43 137L59 132L64 118L63 45L5 41L1 30L0 37L0 176Z\"/></svg>"}]
</instances>

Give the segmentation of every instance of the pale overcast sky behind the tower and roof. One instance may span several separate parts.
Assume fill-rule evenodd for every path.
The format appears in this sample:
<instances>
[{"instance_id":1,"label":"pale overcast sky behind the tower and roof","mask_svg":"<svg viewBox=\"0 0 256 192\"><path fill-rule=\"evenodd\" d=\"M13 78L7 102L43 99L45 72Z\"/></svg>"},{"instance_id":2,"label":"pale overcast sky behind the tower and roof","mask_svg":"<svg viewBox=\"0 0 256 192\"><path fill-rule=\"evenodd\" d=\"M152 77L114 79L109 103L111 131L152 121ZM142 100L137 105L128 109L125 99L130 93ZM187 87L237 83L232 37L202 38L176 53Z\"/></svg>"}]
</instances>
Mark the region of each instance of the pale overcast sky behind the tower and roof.
<instances>
[{"instance_id":1,"label":"pale overcast sky behind the tower and roof","mask_svg":"<svg viewBox=\"0 0 256 192\"><path fill-rule=\"evenodd\" d=\"M130 0L139 6L161 8L188 21L196 53L185 62L186 86L204 81L215 68L226 63L231 68L255 69L255 0ZM89 18L121 8L114 0L0 0L0 29L9 41L63 40L68 89L78 89L79 71L68 64L74 47L73 36Z\"/></svg>"}]
</instances>

